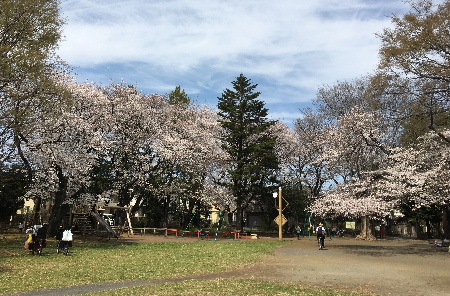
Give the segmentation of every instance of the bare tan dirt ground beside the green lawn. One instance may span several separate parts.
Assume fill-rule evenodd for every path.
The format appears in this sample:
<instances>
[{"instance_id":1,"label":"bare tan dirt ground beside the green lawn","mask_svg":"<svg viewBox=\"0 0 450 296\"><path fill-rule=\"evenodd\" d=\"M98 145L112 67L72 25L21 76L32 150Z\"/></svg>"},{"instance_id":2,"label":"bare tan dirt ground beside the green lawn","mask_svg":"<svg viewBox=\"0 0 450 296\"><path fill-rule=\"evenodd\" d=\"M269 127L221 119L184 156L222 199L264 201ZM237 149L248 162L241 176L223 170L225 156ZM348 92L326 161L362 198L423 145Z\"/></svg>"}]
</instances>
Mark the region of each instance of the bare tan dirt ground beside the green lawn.
<instances>
[{"instance_id":1,"label":"bare tan dirt ground beside the green lawn","mask_svg":"<svg viewBox=\"0 0 450 296\"><path fill-rule=\"evenodd\" d=\"M182 242L192 238L136 235L130 240ZM428 241L327 238L325 250L319 250L314 238L286 240L292 240L293 244L279 248L259 263L226 273L223 277L308 283L375 295L450 295L448 248L434 247Z\"/></svg>"}]
</instances>

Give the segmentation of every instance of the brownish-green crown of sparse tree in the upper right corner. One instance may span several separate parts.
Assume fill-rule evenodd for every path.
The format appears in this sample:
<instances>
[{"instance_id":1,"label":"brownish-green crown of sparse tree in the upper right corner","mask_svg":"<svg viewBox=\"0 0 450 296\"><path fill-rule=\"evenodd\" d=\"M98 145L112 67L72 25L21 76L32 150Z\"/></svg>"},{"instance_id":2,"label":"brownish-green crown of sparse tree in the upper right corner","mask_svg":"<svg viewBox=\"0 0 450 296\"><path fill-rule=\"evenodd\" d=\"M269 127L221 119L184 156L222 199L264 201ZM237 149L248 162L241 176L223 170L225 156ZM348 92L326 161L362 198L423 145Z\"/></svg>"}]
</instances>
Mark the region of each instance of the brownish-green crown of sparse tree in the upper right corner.
<instances>
[{"instance_id":1,"label":"brownish-green crown of sparse tree in the upper right corner","mask_svg":"<svg viewBox=\"0 0 450 296\"><path fill-rule=\"evenodd\" d=\"M426 126L444 139L439 131L442 123L448 126L448 115L442 113L448 113L450 107L449 19L449 1L415 1L409 13L393 17L393 28L379 35L380 77L387 81L388 98L396 103L391 109L400 111L400 118L406 116L419 122L426 119Z\"/></svg>"}]
</instances>

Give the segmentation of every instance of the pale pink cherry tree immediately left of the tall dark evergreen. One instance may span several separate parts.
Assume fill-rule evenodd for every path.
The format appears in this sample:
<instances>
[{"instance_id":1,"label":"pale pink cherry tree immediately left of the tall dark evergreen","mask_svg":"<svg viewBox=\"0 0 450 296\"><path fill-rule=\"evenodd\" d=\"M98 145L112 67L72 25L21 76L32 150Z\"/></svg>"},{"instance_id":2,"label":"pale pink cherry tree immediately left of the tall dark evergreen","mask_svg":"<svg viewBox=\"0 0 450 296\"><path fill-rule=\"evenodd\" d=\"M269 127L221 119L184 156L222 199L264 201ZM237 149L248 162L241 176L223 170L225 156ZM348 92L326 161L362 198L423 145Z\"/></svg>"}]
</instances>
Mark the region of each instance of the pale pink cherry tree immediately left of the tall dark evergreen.
<instances>
[{"instance_id":1,"label":"pale pink cherry tree immediately left of the tall dark evergreen","mask_svg":"<svg viewBox=\"0 0 450 296\"><path fill-rule=\"evenodd\" d=\"M171 105L168 112L165 133L158 142L159 155L171 165L175 177L166 192L182 196L185 221L196 207L229 208L229 194L214 184L225 157L217 141L221 132L217 114L195 104Z\"/></svg>"}]
</instances>

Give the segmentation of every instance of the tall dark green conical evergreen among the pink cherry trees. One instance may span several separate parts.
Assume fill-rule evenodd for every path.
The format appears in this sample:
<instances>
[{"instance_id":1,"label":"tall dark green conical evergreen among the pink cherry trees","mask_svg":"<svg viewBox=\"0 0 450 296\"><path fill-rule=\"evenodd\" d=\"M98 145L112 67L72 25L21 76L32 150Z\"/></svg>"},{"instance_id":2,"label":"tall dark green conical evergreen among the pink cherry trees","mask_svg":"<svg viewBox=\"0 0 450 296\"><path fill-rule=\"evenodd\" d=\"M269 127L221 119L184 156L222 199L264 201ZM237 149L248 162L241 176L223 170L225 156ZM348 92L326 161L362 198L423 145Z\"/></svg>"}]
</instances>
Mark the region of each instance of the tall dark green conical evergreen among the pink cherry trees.
<instances>
[{"instance_id":1,"label":"tall dark green conical evergreen among the pink cherry trees","mask_svg":"<svg viewBox=\"0 0 450 296\"><path fill-rule=\"evenodd\" d=\"M258 100L257 84L243 74L218 97L223 149L229 156L225 185L235 198L237 223L243 228L243 213L251 203L272 197L276 185L278 160L276 136L270 132L275 121L268 120L268 109Z\"/></svg>"}]
</instances>

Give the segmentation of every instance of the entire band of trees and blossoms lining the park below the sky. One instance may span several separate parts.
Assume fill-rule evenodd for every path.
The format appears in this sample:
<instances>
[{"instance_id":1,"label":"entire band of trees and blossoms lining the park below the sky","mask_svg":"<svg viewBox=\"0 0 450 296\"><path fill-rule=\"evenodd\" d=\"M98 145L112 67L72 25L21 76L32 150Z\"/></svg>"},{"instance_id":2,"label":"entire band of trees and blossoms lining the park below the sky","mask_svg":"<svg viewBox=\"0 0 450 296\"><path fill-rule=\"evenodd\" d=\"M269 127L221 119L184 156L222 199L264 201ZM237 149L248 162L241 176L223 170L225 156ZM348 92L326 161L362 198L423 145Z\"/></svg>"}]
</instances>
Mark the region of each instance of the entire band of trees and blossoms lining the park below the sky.
<instances>
[{"instance_id":1,"label":"entire band of trees and blossoms lining the park below the sky","mask_svg":"<svg viewBox=\"0 0 450 296\"><path fill-rule=\"evenodd\" d=\"M2 1L0 218L22 195L36 215L51 205L51 230L69 206L98 199L133 204L149 226L173 217L184 227L215 206L236 211L242 228L247 209L272 219L279 180L293 216L313 197L315 213L333 216L382 217L400 206L417 219L440 216L432 207L445 217L450 1L409 3L378 35L377 72L319 88L292 131L267 118L243 74L218 98L218 113L180 86L146 95L124 83L77 83L55 56L60 1Z\"/></svg>"}]
</instances>

